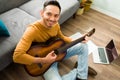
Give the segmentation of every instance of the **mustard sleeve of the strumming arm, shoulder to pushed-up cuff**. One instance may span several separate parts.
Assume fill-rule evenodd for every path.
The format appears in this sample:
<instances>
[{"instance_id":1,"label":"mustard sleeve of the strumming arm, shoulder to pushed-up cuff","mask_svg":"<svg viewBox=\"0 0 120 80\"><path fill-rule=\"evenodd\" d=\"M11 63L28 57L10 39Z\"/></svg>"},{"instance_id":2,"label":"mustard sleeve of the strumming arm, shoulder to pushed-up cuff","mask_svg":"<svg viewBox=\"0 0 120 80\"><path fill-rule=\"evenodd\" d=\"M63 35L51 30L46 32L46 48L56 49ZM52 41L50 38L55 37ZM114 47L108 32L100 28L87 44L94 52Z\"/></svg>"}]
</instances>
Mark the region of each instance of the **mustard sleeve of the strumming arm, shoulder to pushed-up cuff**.
<instances>
[{"instance_id":1,"label":"mustard sleeve of the strumming arm, shoulder to pushed-up cuff","mask_svg":"<svg viewBox=\"0 0 120 80\"><path fill-rule=\"evenodd\" d=\"M31 27L27 28L15 48L13 54L14 62L21 64L31 64L34 61L34 57L26 53L31 46L34 36L35 35Z\"/></svg>"}]
</instances>

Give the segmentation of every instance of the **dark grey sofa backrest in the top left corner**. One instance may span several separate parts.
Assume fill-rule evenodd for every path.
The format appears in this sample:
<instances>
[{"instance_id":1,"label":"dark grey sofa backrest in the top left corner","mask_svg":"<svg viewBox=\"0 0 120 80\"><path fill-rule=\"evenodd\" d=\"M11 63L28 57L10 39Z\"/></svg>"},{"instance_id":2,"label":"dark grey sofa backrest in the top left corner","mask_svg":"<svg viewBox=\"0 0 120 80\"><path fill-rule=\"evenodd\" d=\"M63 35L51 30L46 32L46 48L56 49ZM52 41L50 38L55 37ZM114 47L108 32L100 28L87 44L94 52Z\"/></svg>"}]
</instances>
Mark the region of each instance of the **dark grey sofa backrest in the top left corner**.
<instances>
[{"instance_id":1,"label":"dark grey sofa backrest in the top left corner","mask_svg":"<svg viewBox=\"0 0 120 80\"><path fill-rule=\"evenodd\" d=\"M12 8L18 7L29 0L0 0L0 14Z\"/></svg>"}]
</instances>

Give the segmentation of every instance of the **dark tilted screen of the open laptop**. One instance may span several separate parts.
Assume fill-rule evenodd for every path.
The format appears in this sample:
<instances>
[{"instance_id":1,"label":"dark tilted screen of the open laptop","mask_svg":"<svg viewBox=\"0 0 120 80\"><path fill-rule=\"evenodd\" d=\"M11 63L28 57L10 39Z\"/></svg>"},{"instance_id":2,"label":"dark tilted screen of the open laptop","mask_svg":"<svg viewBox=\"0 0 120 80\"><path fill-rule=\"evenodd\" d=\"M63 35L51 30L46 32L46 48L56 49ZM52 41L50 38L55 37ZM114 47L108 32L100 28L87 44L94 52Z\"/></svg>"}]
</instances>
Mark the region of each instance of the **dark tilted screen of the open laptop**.
<instances>
[{"instance_id":1,"label":"dark tilted screen of the open laptop","mask_svg":"<svg viewBox=\"0 0 120 80\"><path fill-rule=\"evenodd\" d=\"M113 40L111 40L107 46L106 46L106 52L107 52L107 56L110 62L112 62L114 59L116 59L118 57L115 45Z\"/></svg>"}]
</instances>

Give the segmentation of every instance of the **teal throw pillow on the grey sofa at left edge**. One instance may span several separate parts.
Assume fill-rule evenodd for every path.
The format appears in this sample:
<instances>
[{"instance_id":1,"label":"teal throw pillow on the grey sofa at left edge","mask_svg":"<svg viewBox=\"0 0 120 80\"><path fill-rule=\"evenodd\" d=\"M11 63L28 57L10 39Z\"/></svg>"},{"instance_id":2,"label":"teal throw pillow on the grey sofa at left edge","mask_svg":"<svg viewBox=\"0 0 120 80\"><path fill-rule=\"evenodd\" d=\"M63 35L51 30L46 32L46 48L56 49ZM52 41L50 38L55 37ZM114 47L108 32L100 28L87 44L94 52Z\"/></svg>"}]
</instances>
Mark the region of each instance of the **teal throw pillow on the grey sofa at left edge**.
<instances>
[{"instance_id":1,"label":"teal throw pillow on the grey sofa at left edge","mask_svg":"<svg viewBox=\"0 0 120 80\"><path fill-rule=\"evenodd\" d=\"M10 36L5 24L3 23L2 20L0 20L0 37L3 36Z\"/></svg>"}]
</instances>

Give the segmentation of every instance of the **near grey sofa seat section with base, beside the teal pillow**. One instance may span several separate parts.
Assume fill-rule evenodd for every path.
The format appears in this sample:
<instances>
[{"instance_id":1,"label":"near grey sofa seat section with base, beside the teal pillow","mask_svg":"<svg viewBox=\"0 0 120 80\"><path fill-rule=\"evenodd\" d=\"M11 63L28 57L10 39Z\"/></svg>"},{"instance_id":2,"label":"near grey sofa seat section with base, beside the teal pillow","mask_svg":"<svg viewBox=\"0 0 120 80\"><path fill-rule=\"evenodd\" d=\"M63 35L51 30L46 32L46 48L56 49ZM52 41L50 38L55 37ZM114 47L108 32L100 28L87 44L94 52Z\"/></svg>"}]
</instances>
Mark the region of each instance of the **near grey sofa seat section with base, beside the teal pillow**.
<instances>
[{"instance_id":1,"label":"near grey sofa seat section with base, beside the teal pillow","mask_svg":"<svg viewBox=\"0 0 120 80\"><path fill-rule=\"evenodd\" d=\"M0 38L0 70L12 62L12 53L28 24L37 19L26 12L14 8L0 15L6 24L10 37Z\"/></svg>"}]
</instances>

